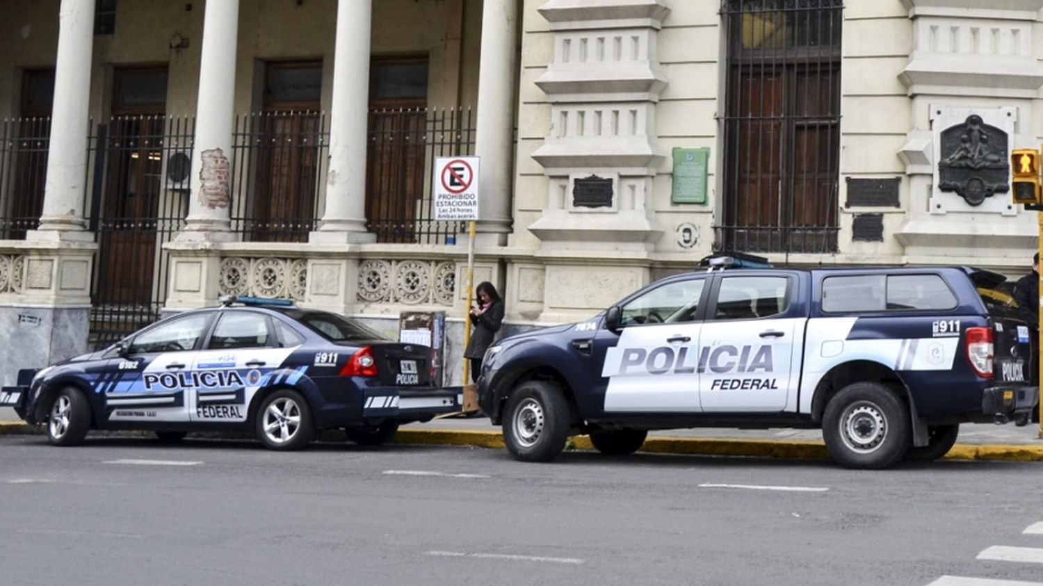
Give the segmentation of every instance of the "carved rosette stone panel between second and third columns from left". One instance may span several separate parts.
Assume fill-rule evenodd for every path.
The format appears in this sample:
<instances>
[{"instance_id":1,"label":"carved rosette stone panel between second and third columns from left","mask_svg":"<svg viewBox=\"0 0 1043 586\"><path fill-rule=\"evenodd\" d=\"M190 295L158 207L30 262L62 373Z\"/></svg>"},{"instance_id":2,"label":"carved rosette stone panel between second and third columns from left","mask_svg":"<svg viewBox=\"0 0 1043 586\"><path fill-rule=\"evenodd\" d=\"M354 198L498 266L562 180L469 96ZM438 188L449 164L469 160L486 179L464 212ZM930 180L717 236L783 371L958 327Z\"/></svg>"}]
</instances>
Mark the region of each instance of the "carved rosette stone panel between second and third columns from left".
<instances>
[{"instance_id":1,"label":"carved rosette stone panel between second and third columns from left","mask_svg":"<svg viewBox=\"0 0 1043 586\"><path fill-rule=\"evenodd\" d=\"M308 261L265 257L221 260L221 295L256 295L302 301L308 291Z\"/></svg>"}]
</instances>

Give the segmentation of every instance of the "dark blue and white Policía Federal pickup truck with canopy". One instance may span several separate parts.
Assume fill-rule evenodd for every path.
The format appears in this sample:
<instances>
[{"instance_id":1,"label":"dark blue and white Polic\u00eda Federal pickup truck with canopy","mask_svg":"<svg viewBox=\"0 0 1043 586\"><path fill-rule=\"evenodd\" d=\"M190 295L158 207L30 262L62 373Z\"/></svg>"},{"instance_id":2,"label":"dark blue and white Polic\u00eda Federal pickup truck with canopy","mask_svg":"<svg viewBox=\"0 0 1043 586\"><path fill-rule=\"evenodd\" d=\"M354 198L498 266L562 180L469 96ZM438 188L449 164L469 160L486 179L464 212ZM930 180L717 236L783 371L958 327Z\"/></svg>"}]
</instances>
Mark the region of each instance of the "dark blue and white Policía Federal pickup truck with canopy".
<instances>
[{"instance_id":1,"label":"dark blue and white Polic\u00eda Federal pickup truck with canopy","mask_svg":"<svg viewBox=\"0 0 1043 586\"><path fill-rule=\"evenodd\" d=\"M976 291L1002 280L926 267L670 276L491 346L479 401L526 461L577 433L624 455L650 430L702 426L821 428L851 468L933 460L960 423L1024 424L1038 400L1027 327Z\"/></svg>"}]
</instances>

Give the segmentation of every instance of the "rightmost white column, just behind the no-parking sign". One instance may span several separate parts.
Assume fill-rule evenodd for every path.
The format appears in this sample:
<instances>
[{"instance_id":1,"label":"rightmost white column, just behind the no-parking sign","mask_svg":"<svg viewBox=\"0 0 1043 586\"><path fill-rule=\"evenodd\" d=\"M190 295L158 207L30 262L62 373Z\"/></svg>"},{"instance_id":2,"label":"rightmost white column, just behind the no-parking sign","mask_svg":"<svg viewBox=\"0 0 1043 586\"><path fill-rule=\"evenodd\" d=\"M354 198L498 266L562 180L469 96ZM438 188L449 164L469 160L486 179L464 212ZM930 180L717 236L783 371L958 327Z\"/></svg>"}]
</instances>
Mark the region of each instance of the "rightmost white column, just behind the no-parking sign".
<instances>
[{"instance_id":1,"label":"rightmost white column, just behind the no-parking sign","mask_svg":"<svg viewBox=\"0 0 1043 586\"><path fill-rule=\"evenodd\" d=\"M507 244L511 229L517 11L517 0L485 0L482 7L475 154L482 157L478 242L483 244Z\"/></svg>"}]
</instances>

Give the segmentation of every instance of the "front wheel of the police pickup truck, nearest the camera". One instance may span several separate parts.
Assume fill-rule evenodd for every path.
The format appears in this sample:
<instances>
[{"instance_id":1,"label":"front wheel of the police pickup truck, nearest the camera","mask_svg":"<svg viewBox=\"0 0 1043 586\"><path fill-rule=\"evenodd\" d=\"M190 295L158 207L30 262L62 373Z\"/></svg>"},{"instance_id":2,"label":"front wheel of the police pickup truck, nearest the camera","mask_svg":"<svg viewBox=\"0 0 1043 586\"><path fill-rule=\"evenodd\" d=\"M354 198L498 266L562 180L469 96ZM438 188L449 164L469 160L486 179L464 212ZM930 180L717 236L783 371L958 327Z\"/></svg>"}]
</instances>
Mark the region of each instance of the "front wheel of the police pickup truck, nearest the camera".
<instances>
[{"instance_id":1,"label":"front wheel of the police pickup truck, nearest the camera","mask_svg":"<svg viewBox=\"0 0 1043 586\"><path fill-rule=\"evenodd\" d=\"M523 383L507 400L503 428L504 443L514 458L549 462L568 439L568 401L553 383Z\"/></svg>"}]
</instances>

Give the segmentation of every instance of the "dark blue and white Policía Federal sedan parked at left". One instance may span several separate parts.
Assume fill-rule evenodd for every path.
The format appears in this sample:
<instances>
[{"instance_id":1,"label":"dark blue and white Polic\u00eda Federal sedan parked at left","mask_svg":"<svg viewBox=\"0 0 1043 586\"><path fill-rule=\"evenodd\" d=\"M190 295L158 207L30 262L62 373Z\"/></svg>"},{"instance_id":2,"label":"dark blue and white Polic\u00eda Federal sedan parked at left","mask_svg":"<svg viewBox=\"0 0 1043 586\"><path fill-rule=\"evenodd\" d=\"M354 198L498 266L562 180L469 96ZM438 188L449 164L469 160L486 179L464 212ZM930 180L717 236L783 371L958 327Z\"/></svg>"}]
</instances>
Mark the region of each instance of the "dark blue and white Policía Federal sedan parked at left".
<instances>
[{"instance_id":1,"label":"dark blue and white Polic\u00eda Federal sedan parked at left","mask_svg":"<svg viewBox=\"0 0 1043 586\"><path fill-rule=\"evenodd\" d=\"M404 422L460 410L459 389L432 385L430 348L391 342L342 316L249 297L166 318L117 344L19 372L0 404L47 423L55 445L91 428L253 430L272 449L344 428L353 441L390 440Z\"/></svg>"}]
</instances>

